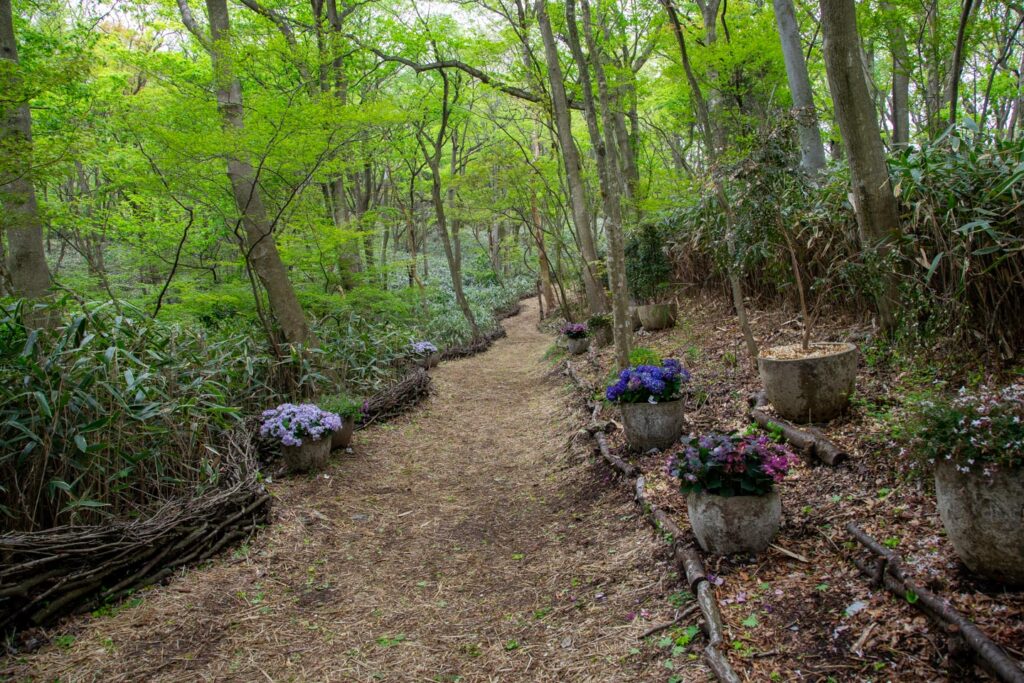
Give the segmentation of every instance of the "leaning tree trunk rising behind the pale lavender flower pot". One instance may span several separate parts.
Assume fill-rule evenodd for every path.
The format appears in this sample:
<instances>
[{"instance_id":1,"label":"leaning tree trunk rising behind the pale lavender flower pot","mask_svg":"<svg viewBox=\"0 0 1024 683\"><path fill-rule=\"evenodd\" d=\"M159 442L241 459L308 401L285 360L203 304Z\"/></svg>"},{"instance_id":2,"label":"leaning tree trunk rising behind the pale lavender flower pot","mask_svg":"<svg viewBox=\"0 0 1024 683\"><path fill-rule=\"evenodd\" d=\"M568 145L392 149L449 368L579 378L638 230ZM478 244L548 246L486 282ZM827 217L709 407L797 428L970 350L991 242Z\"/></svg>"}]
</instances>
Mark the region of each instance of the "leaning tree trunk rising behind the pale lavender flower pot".
<instances>
[{"instance_id":1,"label":"leaning tree trunk rising behind the pale lavender flower pot","mask_svg":"<svg viewBox=\"0 0 1024 683\"><path fill-rule=\"evenodd\" d=\"M234 75L230 50L223 49L230 38L230 24L226 0L207 0L210 19L210 57L213 60L217 109L223 127L229 132L241 132L244 127L242 84ZM316 340L306 325L302 306L281 260L273 239L273 225L267 217L263 199L256 182L252 164L240 155L227 157L227 177L231 184L234 205L242 217L246 233L246 257L266 290L270 309L290 343L315 345Z\"/></svg>"}]
</instances>

